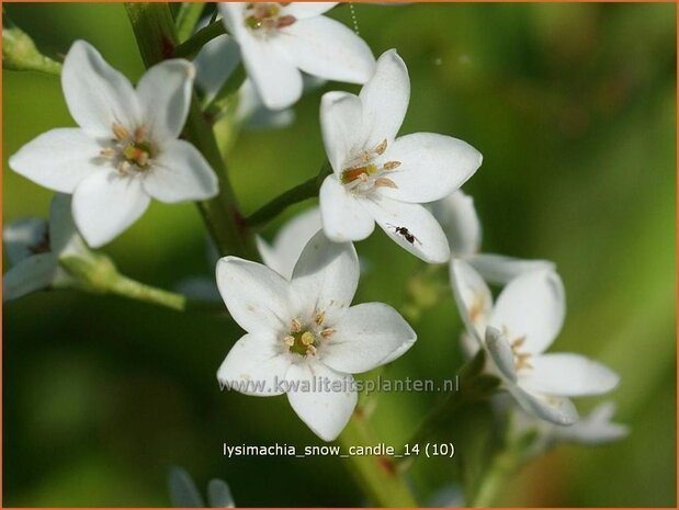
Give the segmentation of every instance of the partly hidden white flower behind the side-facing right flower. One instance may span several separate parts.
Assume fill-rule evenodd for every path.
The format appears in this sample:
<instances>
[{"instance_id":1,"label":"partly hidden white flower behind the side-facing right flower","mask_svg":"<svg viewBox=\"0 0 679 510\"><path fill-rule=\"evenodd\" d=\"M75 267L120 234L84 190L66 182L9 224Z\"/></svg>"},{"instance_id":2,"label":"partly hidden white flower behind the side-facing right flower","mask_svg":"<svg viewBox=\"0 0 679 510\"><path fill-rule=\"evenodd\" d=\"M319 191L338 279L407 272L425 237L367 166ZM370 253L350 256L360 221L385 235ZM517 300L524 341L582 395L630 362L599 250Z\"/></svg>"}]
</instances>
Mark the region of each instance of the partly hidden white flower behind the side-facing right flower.
<instances>
[{"instance_id":1,"label":"partly hidden white flower behind the side-facing right flower","mask_svg":"<svg viewBox=\"0 0 679 510\"><path fill-rule=\"evenodd\" d=\"M539 269L554 270L548 260L522 260L495 253L479 253L482 226L474 199L461 190L431 204L431 212L448 236L454 258L474 267L488 283L503 285L519 274Z\"/></svg>"}]
</instances>

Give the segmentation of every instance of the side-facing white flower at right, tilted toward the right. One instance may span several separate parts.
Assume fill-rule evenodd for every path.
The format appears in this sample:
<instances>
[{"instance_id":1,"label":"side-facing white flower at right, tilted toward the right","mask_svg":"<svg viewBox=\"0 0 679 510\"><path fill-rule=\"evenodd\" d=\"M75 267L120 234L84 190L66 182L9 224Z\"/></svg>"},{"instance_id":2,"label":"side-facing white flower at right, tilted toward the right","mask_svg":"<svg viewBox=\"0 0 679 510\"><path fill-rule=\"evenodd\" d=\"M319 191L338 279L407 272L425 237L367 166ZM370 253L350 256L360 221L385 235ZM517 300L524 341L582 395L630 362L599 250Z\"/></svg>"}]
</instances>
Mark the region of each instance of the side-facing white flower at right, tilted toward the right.
<instances>
[{"instance_id":1,"label":"side-facing white flower at right, tilted toward the right","mask_svg":"<svg viewBox=\"0 0 679 510\"><path fill-rule=\"evenodd\" d=\"M558 335L565 293L554 271L513 279L495 304L483 277L466 262L451 264L451 284L467 332L490 354L495 371L528 412L557 424L574 423L577 410L566 397L613 389L619 377L579 354L545 354Z\"/></svg>"}]
</instances>

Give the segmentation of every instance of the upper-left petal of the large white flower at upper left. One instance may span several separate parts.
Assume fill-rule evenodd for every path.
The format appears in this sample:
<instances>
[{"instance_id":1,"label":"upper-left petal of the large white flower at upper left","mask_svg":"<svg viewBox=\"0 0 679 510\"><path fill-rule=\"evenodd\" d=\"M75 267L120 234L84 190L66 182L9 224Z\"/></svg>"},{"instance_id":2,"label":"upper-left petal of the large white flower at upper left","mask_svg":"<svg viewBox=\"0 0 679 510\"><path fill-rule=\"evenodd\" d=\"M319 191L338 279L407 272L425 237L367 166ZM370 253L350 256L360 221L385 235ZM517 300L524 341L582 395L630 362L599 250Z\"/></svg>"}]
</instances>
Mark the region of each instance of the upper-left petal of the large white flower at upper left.
<instances>
[{"instance_id":1,"label":"upper-left petal of the large white flower at upper left","mask_svg":"<svg viewBox=\"0 0 679 510\"><path fill-rule=\"evenodd\" d=\"M89 134L110 138L114 123L131 131L138 125L132 84L89 43L76 41L68 50L61 87L71 116Z\"/></svg>"}]
</instances>

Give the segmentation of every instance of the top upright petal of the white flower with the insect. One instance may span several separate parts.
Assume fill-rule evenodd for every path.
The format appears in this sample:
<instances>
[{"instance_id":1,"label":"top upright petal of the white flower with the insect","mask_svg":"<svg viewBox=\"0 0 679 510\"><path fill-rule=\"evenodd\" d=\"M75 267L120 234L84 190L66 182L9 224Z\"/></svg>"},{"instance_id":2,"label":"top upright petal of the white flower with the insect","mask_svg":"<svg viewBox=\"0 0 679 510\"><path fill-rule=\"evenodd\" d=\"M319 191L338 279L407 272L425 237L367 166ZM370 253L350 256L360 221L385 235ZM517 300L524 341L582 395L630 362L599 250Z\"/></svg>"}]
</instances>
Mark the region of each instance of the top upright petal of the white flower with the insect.
<instances>
[{"instance_id":1,"label":"top upright petal of the white flower with the insect","mask_svg":"<svg viewBox=\"0 0 679 510\"><path fill-rule=\"evenodd\" d=\"M364 147L376 147L385 139L392 145L410 101L408 69L396 49L385 52L377 59L375 75L363 86L360 98L366 136Z\"/></svg>"}]
</instances>

